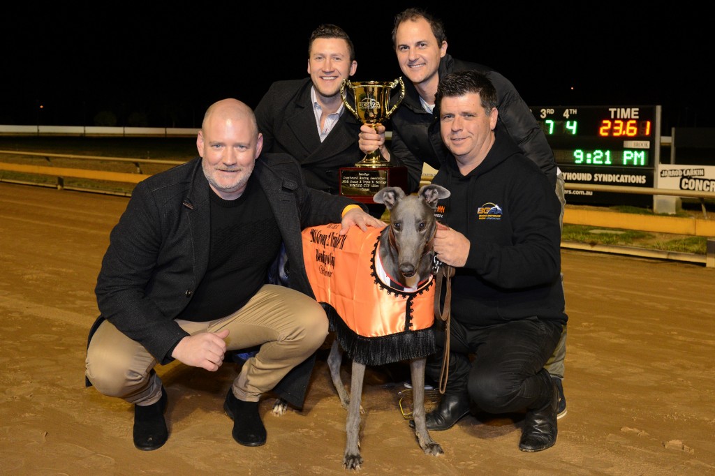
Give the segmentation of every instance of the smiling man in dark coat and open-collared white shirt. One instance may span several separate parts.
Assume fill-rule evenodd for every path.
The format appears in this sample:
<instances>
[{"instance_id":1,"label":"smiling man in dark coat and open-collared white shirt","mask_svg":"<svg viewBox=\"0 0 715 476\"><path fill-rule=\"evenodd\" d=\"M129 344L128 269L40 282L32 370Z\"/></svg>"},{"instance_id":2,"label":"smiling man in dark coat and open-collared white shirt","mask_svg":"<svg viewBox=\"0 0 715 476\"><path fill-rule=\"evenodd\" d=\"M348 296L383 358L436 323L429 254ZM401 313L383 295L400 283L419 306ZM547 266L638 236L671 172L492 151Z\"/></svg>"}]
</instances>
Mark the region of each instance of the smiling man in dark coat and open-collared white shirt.
<instances>
[{"instance_id":1,"label":"smiling man in dark coat and open-collared white shirt","mask_svg":"<svg viewBox=\"0 0 715 476\"><path fill-rule=\"evenodd\" d=\"M355 47L339 26L320 25L308 41L310 77L275 81L256 106L265 152L285 152L300 162L308 187L340 192L340 167L353 167L365 156L358 147L358 119L345 109L342 80L358 69ZM346 88L352 99L352 91ZM370 204L382 216L385 206Z\"/></svg>"}]
</instances>

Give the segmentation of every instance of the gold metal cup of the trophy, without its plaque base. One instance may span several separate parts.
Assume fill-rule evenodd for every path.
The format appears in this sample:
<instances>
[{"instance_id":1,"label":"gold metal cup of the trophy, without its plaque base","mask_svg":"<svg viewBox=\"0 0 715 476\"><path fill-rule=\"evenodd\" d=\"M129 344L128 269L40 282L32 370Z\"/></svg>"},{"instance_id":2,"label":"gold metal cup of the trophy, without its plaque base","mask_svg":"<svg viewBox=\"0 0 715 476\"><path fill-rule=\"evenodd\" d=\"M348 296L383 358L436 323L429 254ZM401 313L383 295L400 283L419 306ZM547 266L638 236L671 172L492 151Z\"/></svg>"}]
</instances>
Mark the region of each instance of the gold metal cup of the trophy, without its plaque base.
<instances>
[{"instance_id":1,"label":"gold metal cup of the trophy, without its plaque base","mask_svg":"<svg viewBox=\"0 0 715 476\"><path fill-rule=\"evenodd\" d=\"M390 93L400 85L400 97L390 107ZM355 94L355 107L350 104L349 99L345 96L345 87L352 89ZM402 76L395 81L363 81L360 83L352 83L348 79L342 80L340 86L340 97L345 107L352 112L358 121L363 124L368 124L373 129L389 119L393 115L395 109L398 108L400 102L405 97L405 83ZM390 167L390 162L386 161L380 155L380 149L375 149L373 152L368 152L363 157L363 160L355 164L355 167Z\"/></svg>"}]
</instances>

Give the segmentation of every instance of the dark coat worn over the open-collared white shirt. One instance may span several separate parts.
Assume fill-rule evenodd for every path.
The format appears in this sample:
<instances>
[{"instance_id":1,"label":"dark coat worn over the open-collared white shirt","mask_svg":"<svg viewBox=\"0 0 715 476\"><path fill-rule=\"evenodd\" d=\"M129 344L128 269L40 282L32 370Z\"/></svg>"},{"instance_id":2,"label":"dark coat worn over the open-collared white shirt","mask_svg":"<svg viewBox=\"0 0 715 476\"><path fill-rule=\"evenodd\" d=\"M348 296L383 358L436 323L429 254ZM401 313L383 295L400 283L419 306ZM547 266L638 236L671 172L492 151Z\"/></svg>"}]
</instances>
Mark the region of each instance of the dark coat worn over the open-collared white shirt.
<instances>
[{"instance_id":1,"label":"dark coat worn over the open-collared white shirt","mask_svg":"<svg viewBox=\"0 0 715 476\"><path fill-rule=\"evenodd\" d=\"M310 78L276 81L256 106L263 152L285 152L300 162L308 187L340 191L338 169L353 167L365 156L358 147L360 122L350 111L340 115L323 142L310 101ZM352 92L346 91L349 97Z\"/></svg>"}]
</instances>

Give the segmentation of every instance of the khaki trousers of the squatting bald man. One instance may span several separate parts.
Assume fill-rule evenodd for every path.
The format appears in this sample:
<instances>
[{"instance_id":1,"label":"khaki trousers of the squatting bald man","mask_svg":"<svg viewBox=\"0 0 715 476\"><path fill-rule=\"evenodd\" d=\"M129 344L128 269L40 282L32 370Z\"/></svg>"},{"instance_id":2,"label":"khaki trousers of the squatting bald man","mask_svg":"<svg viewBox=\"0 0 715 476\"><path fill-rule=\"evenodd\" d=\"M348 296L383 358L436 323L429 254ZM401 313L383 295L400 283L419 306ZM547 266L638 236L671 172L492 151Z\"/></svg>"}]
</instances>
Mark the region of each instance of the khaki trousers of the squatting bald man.
<instances>
[{"instance_id":1,"label":"khaki trousers of the squatting bald man","mask_svg":"<svg viewBox=\"0 0 715 476\"><path fill-rule=\"evenodd\" d=\"M247 304L222 319L192 322L177 319L189 334L230 329L227 350L260 345L233 382L239 400L257 402L293 367L317 350L327 336L327 317L315 299L293 289L265 284ZM87 378L103 395L137 405L152 405L162 396L162 381L152 372L157 360L109 321L92 336L85 362Z\"/></svg>"}]
</instances>

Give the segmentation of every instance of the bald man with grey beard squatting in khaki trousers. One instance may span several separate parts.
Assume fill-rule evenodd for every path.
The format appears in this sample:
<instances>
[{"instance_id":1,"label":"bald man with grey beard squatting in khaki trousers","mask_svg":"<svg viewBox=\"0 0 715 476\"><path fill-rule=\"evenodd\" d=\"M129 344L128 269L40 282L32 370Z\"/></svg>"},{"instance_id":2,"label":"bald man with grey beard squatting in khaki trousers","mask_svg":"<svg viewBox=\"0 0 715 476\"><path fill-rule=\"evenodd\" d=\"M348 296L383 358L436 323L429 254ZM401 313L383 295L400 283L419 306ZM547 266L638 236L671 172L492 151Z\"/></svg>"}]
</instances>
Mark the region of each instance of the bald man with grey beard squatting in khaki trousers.
<instances>
[{"instance_id":1,"label":"bald man with grey beard squatting in khaki trousers","mask_svg":"<svg viewBox=\"0 0 715 476\"><path fill-rule=\"evenodd\" d=\"M112 230L97 279L100 317L89 334L87 384L134 404L134 445L167 441L167 392L154 366L179 360L216 371L227 350L259 347L226 396L232 435L266 441L264 392L302 407L327 317L302 266L301 231L342 221L383 227L345 197L305 186L287 154L261 154L250 107L209 107L197 159L137 184ZM285 245L290 287L266 284Z\"/></svg>"}]
</instances>

